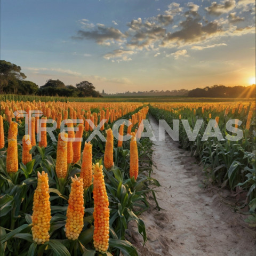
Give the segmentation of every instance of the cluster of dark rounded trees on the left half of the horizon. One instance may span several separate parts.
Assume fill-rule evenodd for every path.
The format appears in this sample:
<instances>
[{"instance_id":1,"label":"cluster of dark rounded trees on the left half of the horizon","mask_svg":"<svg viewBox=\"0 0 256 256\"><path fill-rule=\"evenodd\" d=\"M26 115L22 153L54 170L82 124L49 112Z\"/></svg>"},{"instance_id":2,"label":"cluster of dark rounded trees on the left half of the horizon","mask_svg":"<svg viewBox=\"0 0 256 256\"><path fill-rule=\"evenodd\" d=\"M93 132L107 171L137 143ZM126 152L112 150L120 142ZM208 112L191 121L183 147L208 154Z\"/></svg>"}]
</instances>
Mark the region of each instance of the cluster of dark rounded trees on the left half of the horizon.
<instances>
[{"instance_id":1,"label":"cluster of dark rounded trees on the left half of the horizon","mask_svg":"<svg viewBox=\"0 0 256 256\"><path fill-rule=\"evenodd\" d=\"M0 60L0 93L1 94L30 94L64 97L102 97L88 81L82 81L76 86L65 85L59 79L49 79L39 87L31 81L24 80L26 75L21 67L9 61Z\"/></svg>"}]
</instances>

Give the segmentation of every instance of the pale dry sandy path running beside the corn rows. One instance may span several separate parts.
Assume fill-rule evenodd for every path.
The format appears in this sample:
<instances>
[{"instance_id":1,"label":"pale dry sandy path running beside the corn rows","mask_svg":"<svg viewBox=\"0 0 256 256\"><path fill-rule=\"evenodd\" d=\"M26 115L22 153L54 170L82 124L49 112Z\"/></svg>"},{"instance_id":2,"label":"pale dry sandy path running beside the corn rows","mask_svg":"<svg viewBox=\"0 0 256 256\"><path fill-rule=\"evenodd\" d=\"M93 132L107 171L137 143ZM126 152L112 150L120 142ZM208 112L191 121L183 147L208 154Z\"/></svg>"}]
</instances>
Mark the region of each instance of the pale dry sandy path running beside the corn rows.
<instances>
[{"instance_id":1,"label":"pale dry sandy path running beside the corn rows","mask_svg":"<svg viewBox=\"0 0 256 256\"><path fill-rule=\"evenodd\" d=\"M157 135L157 123L150 118ZM205 179L202 167L189 152L180 149L168 134L165 141L154 142L153 161L157 168L152 177L161 187L156 188L159 206L140 215L146 225L148 241L131 223L129 239L142 256L191 255L256 255L255 234L247 229L243 215L225 203L227 191L216 187L202 188ZM226 194L225 194L226 193Z\"/></svg>"}]
</instances>

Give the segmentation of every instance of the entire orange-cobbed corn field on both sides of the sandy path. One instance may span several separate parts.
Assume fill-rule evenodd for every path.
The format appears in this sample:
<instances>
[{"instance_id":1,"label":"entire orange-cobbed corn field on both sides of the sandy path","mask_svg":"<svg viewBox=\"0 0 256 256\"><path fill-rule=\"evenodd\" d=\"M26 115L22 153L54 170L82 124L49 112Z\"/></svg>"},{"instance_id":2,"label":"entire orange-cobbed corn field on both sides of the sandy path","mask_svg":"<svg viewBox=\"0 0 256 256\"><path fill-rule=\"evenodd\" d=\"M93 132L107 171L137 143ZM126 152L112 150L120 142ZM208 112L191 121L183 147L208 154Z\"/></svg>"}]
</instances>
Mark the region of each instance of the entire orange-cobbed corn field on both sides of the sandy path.
<instances>
[{"instance_id":1,"label":"entire orange-cobbed corn field on both sides of the sandy path","mask_svg":"<svg viewBox=\"0 0 256 256\"><path fill-rule=\"evenodd\" d=\"M160 210L153 189L160 185L151 177L153 142L141 136L146 127L139 125L149 114L172 128L173 120L179 120L181 147L204 165L208 181L232 191L246 191L240 208L248 215L246 221L255 225L254 102L145 105L23 99L1 101L0 255L138 255L127 241L129 222L137 223L146 243L147 230L140 214L149 209L149 197ZM32 116L28 122L20 114L22 110L42 116ZM66 119L68 130L63 131ZM129 120L131 125L121 124L115 138L114 124L119 119ZM182 119L191 130L203 119L195 140L188 139ZM242 123L235 123L235 129L243 131L243 138L203 141L212 119L224 137L234 135L226 123L239 119ZM53 138L46 132L52 127L47 120L56 123ZM98 136L92 137L95 129ZM123 135L130 139L123 140Z\"/></svg>"}]
</instances>

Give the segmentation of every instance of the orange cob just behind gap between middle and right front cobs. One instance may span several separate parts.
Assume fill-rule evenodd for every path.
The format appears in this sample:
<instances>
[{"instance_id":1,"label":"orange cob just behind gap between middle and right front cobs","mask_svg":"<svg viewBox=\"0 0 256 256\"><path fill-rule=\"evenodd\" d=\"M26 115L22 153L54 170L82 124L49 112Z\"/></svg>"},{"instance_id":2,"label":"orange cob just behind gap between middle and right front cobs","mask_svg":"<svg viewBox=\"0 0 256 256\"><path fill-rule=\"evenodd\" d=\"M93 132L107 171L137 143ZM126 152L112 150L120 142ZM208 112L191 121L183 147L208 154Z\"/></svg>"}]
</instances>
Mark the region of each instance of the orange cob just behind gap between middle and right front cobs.
<instances>
[{"instance_id":1,"label":"orange cob just behind gap between middle and right front cobs","mask_svg":"<svg viewBox=\"0 0 256 256\"><path fill-rule=\"evenodd\" d=\"M88 188L92 184L92 144L90 142L84 144L83 161L80 177L83 179L84 188Z\"/></svg>"}]
</instances>

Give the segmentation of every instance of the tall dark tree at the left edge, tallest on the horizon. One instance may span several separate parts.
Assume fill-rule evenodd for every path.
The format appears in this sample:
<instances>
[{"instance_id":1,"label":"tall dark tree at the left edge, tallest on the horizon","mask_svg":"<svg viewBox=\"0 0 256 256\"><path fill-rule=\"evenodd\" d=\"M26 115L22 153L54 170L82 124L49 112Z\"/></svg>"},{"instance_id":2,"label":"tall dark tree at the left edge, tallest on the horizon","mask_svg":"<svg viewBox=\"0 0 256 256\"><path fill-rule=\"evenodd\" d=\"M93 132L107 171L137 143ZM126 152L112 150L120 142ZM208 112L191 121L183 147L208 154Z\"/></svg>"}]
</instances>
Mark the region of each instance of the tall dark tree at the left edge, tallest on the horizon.
<instances>
[{"instance_id":1,"label":"tall dark tree at the left edge, tallest on the horizon","mask_svg":"<svg viewBox=\"0 0 256 256\"><path fill-rule=\"evenodd\" d=\"M17 93L18 81L25 78L20 66L0 60L0 93Z\"/></svg>"}]
</instances>

